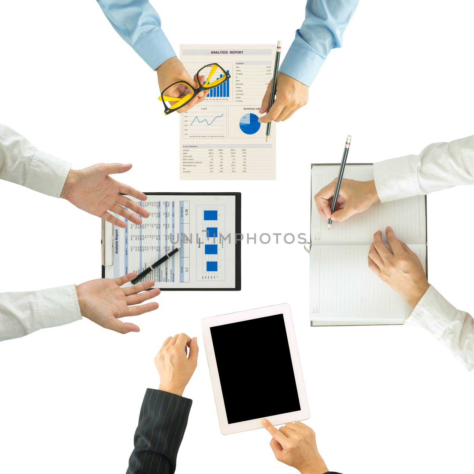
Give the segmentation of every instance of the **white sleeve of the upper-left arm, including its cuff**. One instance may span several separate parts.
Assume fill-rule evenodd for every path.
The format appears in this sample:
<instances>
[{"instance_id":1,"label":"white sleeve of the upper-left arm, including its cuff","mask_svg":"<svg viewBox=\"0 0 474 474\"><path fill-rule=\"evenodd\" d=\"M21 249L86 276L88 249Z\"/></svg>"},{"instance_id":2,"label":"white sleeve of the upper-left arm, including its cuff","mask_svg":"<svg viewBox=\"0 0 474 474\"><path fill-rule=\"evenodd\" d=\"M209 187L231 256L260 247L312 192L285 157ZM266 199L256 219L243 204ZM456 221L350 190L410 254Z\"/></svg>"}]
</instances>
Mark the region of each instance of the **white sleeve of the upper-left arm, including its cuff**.
<instances>
[{"instance_id":1,"label":"white sleeve of the upper-left arm, including its cuff","mask_svg":"<svg viewBox=\"0 0 474 474\"><path fill-rule=\"evenodd\" d=\"M25 137L0 124L0 179L59 198L71 163L36 149Z\"/></svg>"}]
</instances>

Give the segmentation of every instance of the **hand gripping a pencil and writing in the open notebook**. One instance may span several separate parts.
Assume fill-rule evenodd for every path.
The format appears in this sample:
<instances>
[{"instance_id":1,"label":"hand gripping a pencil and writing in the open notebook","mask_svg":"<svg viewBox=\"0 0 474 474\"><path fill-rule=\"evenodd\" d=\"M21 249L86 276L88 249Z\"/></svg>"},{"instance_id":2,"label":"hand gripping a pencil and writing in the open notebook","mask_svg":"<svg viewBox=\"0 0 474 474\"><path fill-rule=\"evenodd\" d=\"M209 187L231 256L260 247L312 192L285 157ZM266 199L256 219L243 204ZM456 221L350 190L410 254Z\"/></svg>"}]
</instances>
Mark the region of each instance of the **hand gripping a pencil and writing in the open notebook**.
<instances>
[{"instance_id":1,"label":"hand gripping a pencil and writing in the open notebook","mask_svg":"<svg viewBox=\"0 0 474 474\"><path fill-rule=\"evenodd\" d=\"M379 202L379 196L375 189L375 182L355 181L353 179L342 179L337 197L336 209L331 215L331 206L336 191L337 178L333 179L327 186L324 186L318 194L314 196L316 208L325 219L331 218L338 222L343 222L349 217L363 212Z\"/></svg>"}]
</instances>

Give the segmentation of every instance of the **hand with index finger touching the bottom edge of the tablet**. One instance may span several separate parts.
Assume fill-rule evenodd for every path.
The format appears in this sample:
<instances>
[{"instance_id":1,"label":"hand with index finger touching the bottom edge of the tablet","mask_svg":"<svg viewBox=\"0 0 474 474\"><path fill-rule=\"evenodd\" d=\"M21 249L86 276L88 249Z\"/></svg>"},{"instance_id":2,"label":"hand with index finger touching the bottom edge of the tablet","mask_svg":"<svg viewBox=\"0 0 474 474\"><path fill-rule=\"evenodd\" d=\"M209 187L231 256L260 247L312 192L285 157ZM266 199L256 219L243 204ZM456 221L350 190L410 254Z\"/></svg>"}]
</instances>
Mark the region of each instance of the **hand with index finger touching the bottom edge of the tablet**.
<instances>
[{"instance_id":1,"label":"hand with index finger touching the bottom edge of the tablet","mask_svg":"<svg viewBox=\"0 0 474 474\"><path fill-rule=\"evenodd\" d=\"M301 474L328 472L316 446L316 435L309 426L297 421L276 429L267 419L262 420L262 425L273 437L270 447L278 461L298 469Z\"/></svg>"}]
</instances>

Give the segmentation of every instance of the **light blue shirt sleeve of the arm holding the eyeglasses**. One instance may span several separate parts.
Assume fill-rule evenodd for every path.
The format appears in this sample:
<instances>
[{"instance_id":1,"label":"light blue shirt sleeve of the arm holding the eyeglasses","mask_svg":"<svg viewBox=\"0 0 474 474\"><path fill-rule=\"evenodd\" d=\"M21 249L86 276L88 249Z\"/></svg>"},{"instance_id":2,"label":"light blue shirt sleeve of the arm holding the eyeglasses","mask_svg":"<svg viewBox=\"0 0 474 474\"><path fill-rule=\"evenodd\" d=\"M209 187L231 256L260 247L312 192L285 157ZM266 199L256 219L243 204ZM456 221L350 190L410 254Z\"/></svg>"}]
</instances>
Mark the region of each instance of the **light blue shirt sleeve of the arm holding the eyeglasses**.
<instances>
[{"instance_id":1,"label":"light blue shirt sleeve of the arm holding the eyeglasses","mask_svg":"<svg viewBox=\"0 0 474 474\"><path fill-rule=\"evenodd\" d=\"M161 19L147 0L97 0L114 27L137 54L155 70L176 56L161 29Z\"/></svg>"}]
</instances>

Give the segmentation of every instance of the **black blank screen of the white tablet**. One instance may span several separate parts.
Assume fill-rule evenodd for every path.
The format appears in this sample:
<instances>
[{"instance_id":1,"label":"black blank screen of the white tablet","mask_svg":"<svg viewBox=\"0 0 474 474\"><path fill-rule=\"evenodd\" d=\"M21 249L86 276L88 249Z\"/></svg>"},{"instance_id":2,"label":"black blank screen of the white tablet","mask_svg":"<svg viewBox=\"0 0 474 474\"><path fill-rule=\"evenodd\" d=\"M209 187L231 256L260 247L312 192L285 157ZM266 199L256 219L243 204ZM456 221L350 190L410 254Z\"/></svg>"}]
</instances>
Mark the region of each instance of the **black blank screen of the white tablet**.
<instances>
[{"instance_id":1,"label":"black blank screen of the white tablet","mask_svg":"<svg viewBox=\"0 0 474 474\"><path fill-rule=\"evenodd\" d=\"M283 314L210 334L229 424L300 410Z\"/></svg>"}]
</instances>

